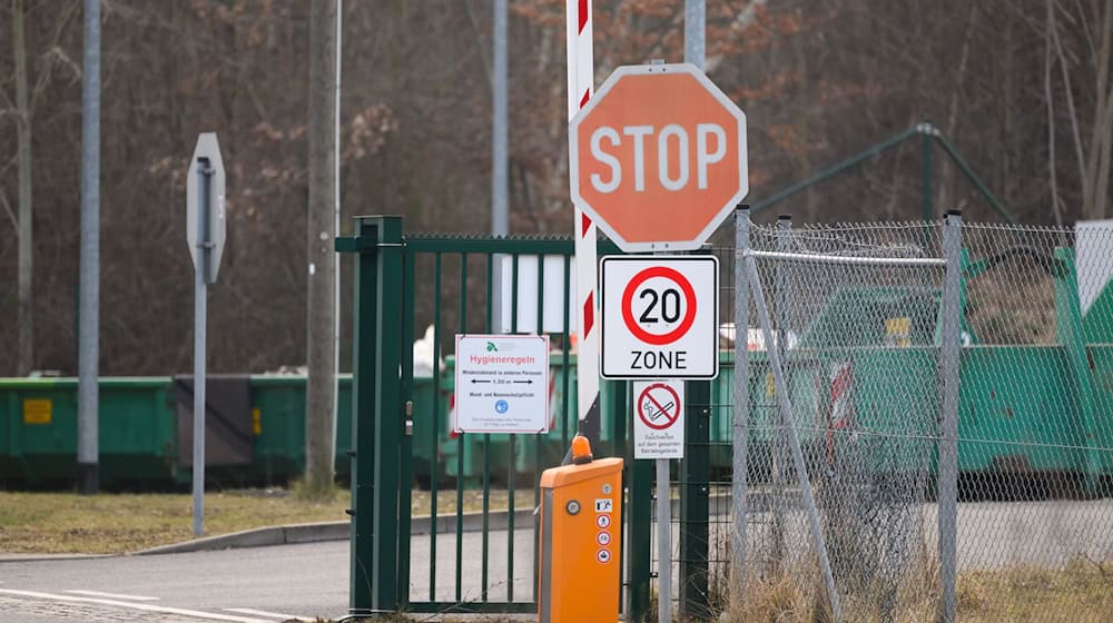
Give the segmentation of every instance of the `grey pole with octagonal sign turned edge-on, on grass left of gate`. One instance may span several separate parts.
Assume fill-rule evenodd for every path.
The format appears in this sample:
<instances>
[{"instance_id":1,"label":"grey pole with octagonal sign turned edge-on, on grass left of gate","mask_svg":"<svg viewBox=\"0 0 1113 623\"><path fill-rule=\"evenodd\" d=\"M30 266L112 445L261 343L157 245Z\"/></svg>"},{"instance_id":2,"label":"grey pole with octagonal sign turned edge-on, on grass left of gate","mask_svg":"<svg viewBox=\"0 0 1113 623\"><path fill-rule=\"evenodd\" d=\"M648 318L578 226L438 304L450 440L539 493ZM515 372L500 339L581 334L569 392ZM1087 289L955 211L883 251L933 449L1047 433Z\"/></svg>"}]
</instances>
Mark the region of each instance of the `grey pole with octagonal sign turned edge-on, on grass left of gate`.
<instances>
[{"instance_id":1,"label":"grey pole with octagonal sign turned edge-on, on grass left of gate","mask_svg":"<svg viewBox=\"0 0 1113 623\"><path fill-rule=\"evenodd\" d=\"M197 137L186 176L186 241L194 259L194 536L205 533L205 322L224 250L224 162L216 134Z\"/></svg>"}]
</instances>

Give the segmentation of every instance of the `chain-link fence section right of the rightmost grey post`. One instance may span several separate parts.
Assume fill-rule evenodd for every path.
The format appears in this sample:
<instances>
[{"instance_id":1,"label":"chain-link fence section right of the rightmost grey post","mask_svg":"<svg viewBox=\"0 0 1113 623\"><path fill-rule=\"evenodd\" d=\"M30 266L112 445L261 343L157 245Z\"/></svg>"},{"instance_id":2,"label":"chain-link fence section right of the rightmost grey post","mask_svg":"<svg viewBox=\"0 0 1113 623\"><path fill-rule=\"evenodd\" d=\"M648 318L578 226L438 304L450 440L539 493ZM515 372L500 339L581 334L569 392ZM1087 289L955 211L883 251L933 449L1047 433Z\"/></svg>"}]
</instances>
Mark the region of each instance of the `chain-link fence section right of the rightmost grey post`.
<instances>
[{"instance_id":1,"label":"chain-link fence section right of the rightmost grey post","mask_svg":"<svg viewBox=\"0 0 1113 623\"><path fill-rule=\"evenodd\" d=\"M1113 228L972 224L963 247L959 615L1109 620Z\"/></svg>"}]
</instances>

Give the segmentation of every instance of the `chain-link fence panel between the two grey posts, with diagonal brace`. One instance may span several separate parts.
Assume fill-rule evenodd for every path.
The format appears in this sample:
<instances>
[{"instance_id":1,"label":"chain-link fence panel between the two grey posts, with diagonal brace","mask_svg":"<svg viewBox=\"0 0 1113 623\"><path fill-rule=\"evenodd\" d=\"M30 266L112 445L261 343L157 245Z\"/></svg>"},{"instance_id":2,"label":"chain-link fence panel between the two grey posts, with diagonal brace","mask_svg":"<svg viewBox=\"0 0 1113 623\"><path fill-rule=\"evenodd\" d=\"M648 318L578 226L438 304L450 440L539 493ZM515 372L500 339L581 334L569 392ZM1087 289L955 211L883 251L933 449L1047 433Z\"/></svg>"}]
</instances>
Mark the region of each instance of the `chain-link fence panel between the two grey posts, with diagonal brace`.
<instances>
[{"instance_id":1,"label":"chain-link fence panel between the two grey posts, with diagonal brace","mask_svg":"<svg viewBox=\"0 0 1113 623\"><path fill-rule=\"evenodd\" d=\"M920 508L942 419L939 234L751 227L750 249L767 255L743 259L760 286L750 284L750 326L768 332L747 336L749 592L856 620L924 601L934 526Z\"/></svg>"}]
</instances>

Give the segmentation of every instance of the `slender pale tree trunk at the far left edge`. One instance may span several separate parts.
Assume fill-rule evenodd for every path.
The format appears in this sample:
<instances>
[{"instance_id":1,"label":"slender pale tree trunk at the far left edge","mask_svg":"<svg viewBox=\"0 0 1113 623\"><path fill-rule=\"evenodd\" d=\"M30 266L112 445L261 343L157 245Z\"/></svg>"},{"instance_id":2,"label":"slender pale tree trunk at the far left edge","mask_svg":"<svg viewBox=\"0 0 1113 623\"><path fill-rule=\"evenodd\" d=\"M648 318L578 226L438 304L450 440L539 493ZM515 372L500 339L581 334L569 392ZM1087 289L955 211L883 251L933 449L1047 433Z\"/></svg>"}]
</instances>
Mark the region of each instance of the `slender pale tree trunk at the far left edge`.
<instances>
[{"instance_id":1,"label":"slender pale tree trunk at the far left edge","mask_svg":"<svg viewBox=\"0 0 1113 623\"><path fill-rule=\"evenodd\" d=\"M23 0L11 2L11 34L16 58L16 115L19 169L19 354L16 374L26 376L35 367L33 230L31 228L31 109L27 99L27 39Z\"/></svg>"}]
</instances>

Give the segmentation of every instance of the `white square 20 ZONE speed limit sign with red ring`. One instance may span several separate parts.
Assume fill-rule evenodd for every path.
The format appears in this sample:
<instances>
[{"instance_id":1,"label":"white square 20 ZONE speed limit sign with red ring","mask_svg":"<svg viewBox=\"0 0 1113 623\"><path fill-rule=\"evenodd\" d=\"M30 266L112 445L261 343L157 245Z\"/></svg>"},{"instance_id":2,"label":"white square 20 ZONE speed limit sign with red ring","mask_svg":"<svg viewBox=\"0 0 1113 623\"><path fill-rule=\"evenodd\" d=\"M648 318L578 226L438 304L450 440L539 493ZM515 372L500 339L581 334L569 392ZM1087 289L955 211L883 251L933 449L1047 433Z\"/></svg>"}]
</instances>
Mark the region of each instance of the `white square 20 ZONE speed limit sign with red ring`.
<instances>
[{"instance_id":1,"label":"white square 20 ZONE speed limit sign with red ring","mask_svg":"<svg viewBox=\"0 0 1113 623\"><path fill-rule=\"evenodd\" d=\"M715 378L715 256L608 256L601 263L604 378Z\"/></svg>"}]
</instances>

